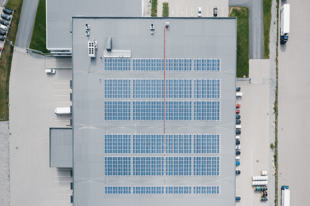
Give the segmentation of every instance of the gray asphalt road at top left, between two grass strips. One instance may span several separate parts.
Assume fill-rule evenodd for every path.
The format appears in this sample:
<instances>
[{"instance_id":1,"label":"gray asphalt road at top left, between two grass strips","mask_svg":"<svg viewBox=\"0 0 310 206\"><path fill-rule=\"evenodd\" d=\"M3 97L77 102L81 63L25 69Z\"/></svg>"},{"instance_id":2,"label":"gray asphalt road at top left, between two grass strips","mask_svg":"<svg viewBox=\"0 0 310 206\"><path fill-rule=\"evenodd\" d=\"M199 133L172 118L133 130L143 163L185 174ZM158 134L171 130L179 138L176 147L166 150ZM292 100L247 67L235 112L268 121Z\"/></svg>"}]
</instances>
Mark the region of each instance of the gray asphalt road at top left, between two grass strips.
<instances>
[{"instance_id":1,"label":"gray asphalt road at top left, between two grass strips","mask_svg":"<svg viewBox=\"0 0 310 206\"><path fill-rule=\"evenodd\" d=\"M29 48L34 19L37 13L39 0L24 0L20 14L15 46Z\"/></svg>"}]
</instances>

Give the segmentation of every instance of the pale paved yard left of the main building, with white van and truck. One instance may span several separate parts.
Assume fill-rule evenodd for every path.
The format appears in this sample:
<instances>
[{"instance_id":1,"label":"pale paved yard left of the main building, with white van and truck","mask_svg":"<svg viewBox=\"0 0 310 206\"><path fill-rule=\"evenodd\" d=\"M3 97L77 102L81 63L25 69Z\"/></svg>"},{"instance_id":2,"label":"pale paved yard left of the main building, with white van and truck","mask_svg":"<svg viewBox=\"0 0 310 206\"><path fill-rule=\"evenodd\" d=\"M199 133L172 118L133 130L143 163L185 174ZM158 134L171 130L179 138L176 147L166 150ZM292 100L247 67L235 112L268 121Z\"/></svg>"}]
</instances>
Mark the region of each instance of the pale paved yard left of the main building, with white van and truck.
<instances>
[{"instance_id":1,"label":"pale paved yard left of the main building, with white van and truck","mask_svg":"<svg viewBox=\"0 0 310 206\"><path fill-rule=\"evenodd\" d=\"M11 205L71 205L70 170L49 167L49 127L70 124L71 115L55 115L53 109L72 104L72 73L55 69L55 74L46 74L45 61L14 49L9 100Z\"/></svg>"}]
</instances>

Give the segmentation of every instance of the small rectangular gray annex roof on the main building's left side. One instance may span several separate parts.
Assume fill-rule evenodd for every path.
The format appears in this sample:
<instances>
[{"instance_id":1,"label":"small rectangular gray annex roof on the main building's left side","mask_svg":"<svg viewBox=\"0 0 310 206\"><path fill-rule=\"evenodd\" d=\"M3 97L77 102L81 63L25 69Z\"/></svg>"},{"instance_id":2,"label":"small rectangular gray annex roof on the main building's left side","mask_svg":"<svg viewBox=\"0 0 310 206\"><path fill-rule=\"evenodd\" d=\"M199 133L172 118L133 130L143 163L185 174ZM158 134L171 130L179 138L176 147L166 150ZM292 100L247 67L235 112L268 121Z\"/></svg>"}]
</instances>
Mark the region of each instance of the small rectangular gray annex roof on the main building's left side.
<instances>
[{"instance_id":1,"label":"small rectangular gray annex roof on the main building's left side","mask_svg":"<svg viewBox=\"0 0 310 206\"><path fill-rule=\"evenodd\" d=\"M50 128L50 167L73 166L72 128Z\"/></svg>"}]
</instances>

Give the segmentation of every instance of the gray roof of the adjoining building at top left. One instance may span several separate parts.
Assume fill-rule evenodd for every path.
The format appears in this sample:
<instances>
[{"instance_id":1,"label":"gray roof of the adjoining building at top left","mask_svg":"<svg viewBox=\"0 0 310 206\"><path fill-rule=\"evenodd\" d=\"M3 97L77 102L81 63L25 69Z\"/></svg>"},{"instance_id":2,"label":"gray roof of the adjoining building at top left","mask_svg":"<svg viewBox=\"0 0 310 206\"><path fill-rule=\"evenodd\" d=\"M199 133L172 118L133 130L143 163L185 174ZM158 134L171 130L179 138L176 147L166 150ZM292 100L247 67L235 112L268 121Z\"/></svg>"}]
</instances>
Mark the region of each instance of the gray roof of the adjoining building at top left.
<instances>
[{"instance_id":1,"label":"gray roof of the adjoining building at top left","mask_svg":"<svg viewBox=\"0 0 310 206\"><path fill-rule=\"evenodd\" d=\"M46 0L47 49L72 48L73 16L142 16L143 0ZM85 31L84 31L85 32Z\"/></svg>"}]
</instances>

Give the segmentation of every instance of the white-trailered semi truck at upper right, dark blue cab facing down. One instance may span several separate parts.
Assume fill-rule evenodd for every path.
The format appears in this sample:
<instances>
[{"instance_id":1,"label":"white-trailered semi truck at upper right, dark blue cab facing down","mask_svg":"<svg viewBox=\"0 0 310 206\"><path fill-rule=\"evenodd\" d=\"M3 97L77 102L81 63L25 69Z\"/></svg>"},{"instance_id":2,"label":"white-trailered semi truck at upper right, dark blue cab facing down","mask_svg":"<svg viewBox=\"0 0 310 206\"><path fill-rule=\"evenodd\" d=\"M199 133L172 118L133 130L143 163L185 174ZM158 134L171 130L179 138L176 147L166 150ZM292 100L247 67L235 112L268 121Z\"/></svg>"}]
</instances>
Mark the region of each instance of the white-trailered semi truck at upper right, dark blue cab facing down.
<instances>
[{"instance_id":1,"label":"white-trailered semi truck at upper right, dark blue cab facing down","mask_svg":"<svg viewBox=\"0 0 310 206\"><path fill-rule=\"evenodd\" d=\"M281 8L280 44L289 40L290 32L290 4L284 4Z\"/></svg>"}]
</instances>

